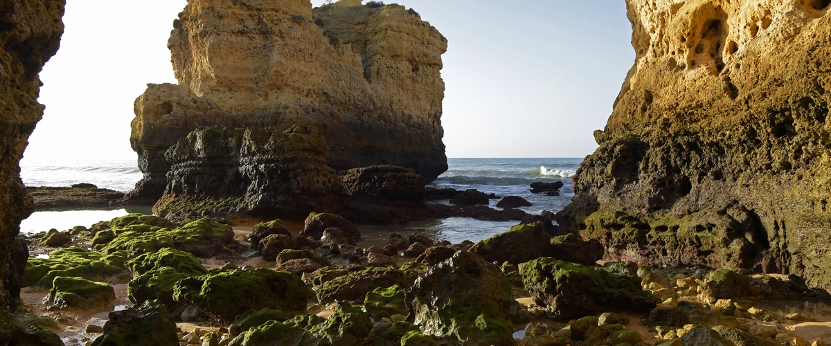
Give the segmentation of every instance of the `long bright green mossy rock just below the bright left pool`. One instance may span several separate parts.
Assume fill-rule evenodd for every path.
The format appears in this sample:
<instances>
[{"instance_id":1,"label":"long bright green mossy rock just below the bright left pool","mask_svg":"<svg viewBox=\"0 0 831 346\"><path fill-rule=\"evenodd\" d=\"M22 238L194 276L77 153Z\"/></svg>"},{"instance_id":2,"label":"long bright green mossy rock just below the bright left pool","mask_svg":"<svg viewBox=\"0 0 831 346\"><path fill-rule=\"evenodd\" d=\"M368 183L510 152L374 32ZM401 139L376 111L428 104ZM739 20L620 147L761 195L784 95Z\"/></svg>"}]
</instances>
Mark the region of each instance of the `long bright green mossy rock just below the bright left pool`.
<instances>
[{"instance_id":1,"label":"long bright green mossy rock just below the bright left pool","mask_svg":"<svg viewBox=\"0 0 831 346\"><path fill-rule=\"evenodd\" d=\"M130 256L139 256L165 247L172 247L194 254L194 256L210 256L211 246L214 244L224 245L234 241L234 230L230 226L207 217L189 222L172 231L169 228L149 225L131 226L146 227L116 231L116 238L106 246L102 246L101 252L126 251Z\"/></svg>"}]
</instances>

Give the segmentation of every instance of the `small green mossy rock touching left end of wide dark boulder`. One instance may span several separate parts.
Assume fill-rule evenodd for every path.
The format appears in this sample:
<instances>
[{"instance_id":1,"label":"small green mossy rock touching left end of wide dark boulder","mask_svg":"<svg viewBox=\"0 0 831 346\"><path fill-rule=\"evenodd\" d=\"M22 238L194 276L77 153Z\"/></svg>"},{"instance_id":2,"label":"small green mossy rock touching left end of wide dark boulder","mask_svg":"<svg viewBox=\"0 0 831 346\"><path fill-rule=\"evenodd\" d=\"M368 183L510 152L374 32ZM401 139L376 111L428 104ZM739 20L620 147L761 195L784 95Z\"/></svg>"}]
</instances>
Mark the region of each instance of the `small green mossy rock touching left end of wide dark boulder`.
<instances>
[{"instance_id":1,"label":"small green mossy rock touching left end of wide dark boulder","mask_svg":"<svg viewBox=\"0 0 831 346\"><path fill-rule=\"evenodd\" d=\"M176 282L189 277L190 275L180 273L179 270L169 266L146 271L130 280L127 285L127 298L135 304L141 304L147 300L159 300L161 304L173 309L179 305L173 299Z\"/></svg>"}]
</instances>

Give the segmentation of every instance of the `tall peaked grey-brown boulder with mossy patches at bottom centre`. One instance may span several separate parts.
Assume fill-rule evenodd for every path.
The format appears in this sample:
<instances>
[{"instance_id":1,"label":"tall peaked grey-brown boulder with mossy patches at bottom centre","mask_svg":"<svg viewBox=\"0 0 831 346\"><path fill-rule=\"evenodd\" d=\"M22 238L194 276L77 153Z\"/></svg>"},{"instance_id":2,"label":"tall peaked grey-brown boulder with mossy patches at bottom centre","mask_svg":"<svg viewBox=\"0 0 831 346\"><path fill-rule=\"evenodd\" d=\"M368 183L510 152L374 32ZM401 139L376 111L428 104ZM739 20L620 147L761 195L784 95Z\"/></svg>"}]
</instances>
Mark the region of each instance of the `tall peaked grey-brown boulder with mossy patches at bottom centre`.
<instances>
[{"instance_id":1,"label":"tall peaked grey-brown boulder with mossy patches at bottom centre","mask_svg":"<svg viewBox=\"0 0 831 346\"><path fill-rule=\"evenodd\" d=\"M415 324L447 344L516 344L511 285L498 267L473 253L460 251L431 266L405 296Z\"/></svg>"}]
</instances>

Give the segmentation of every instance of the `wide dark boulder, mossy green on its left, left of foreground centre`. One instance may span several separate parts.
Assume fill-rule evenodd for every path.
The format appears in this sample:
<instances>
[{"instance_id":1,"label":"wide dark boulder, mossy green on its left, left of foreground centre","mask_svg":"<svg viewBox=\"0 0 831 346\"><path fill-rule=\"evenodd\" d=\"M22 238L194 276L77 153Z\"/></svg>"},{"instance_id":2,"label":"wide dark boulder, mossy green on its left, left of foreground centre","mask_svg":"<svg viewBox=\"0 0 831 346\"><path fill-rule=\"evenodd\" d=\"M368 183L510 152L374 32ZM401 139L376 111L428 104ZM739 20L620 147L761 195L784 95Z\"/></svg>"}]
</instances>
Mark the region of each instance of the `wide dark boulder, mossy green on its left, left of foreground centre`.
<instances>
[{"instance_id":1,"label":"wide dark boulder, mossy green on its left, left of foreground centre","mask_svg":"<svg viewBox=\"0 0 831 346\"><path fill-rule=\"evenodd\" d=\"M224 321L249 309L278 309L288 316L304 314L310 289L297 275L257 268L229 270L179 280L173 299L194 305Z\"/></svg>"}]
</instances>

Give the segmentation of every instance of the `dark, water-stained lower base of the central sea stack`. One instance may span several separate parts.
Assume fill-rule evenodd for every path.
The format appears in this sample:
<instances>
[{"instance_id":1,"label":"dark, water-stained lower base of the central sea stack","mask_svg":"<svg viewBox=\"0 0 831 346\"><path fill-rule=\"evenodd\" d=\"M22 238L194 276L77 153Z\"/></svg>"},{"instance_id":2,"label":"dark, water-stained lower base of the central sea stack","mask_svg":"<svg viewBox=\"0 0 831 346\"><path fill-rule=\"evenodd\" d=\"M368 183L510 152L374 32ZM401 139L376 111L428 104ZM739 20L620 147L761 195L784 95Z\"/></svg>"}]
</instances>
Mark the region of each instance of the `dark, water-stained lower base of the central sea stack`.
<instances>
[{"instance_id":1,"label":"dark, water-stained lower base of the central sea stack","mask_svg":"<svg viewBox=\"0 0 831 346\"><path fill-rule=\"evenodd\" d=\"M196 129L165 154L168 186L153 211L169 219L347 213L326 152L326 141L311 127Z\"/></svg>"}]
</instances>

